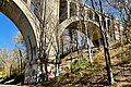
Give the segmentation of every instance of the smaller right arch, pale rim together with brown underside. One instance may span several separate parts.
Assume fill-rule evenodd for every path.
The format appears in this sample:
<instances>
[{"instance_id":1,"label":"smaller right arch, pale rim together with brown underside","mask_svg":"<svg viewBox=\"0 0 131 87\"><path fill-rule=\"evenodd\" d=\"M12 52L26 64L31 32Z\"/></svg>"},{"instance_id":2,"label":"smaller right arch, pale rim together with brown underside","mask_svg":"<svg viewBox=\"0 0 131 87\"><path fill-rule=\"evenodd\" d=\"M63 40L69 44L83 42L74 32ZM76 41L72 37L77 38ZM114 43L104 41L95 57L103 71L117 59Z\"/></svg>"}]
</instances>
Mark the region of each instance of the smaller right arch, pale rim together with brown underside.
<instances>
[{"instance_id":1,"label":"smaller right arch, pale rim together with brown underside","mask_svg":"<svg viewBox=\"0 0 131 87\"><path fill-rule=\"evenodd\" d=\"M100 30L98 24L91 20L83 21L81 17L72 16L67 18L59 25L59 34L61 35L66 28L68 29L76 29L85 34L88 30L88 36L92 37L92 40L98 40L102 38Z\"/></svg>"}]
</instances>

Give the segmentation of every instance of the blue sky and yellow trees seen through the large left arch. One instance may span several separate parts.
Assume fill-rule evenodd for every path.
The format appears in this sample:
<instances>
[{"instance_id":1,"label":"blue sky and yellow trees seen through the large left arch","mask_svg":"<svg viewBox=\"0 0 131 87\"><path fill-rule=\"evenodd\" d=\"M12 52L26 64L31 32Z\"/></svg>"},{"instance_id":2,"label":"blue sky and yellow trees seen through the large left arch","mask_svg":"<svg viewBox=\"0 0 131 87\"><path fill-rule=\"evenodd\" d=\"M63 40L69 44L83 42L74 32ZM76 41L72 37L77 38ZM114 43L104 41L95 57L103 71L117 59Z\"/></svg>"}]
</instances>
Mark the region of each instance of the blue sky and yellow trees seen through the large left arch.
<instances>
[{"instance_id":1,"label":"blue sky and yellow trees seen through the large left arch","mask_svg":"<svg viewBox=\"0 0 131 87\"><path fill-rule=\"evenodd\" d=\"M0 12L0 75L1 78L23 75L26 62L26 45L15 24ZM20 83L20 79L17 83ZM4 84L4 79L1 84Z\"/></svg>"}]
</instances>

